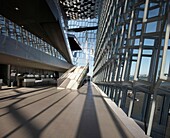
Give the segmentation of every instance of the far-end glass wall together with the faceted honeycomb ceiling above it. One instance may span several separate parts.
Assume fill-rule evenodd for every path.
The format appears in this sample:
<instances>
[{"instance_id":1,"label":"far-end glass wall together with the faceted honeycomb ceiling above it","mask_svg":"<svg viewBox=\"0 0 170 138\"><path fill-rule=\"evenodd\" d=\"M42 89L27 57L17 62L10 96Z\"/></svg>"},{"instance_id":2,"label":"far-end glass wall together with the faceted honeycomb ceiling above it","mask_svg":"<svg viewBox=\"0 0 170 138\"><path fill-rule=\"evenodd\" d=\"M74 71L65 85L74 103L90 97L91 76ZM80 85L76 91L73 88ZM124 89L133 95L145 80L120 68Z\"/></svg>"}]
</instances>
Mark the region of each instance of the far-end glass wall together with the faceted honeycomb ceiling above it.
<instances>
[{"instance_id":1,"label":"far-end glass wall together with the faceted honeycomb ceiling above it","mask_svg":"<svg viewBox=\"0 0 170 138\"><path fill-rule=\"evenodd\" d=\"M100 1L60 1L67 21L67 31L69 34L76 36L81 47L81 50L73 51L73 63L76 66L85 66L89 63L90 76L93 75Z\"/></svg>"}]
</instances>

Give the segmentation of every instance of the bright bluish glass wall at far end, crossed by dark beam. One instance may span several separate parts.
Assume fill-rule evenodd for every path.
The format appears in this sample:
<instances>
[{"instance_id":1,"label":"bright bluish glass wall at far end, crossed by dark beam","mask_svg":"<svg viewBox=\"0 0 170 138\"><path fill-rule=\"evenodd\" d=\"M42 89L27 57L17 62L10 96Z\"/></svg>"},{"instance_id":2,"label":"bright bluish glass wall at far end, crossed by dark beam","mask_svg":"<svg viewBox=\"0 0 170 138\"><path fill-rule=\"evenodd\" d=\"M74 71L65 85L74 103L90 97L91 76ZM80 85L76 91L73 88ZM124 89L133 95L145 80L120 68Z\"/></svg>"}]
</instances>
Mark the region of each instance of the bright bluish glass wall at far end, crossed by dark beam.
<instances>
[{"instance_id":1,"label":"bright bluish glass wall at far end, crossed by dark beam","mask_svg":"<svg viewBox=\"0 0 170 138\"><path fill-rule=\"evenodd\" d=\"M98 24L98 19L82 19L82 20L69 20L68 29L76 28L90 28L96 27ZM97 29L94 30L84 30L80 32L70 31L70 34L76 36L80 43L82 50L73 51L73 63L76 66L85 66L89 63L89 75L93 74L93 64L94 64L94 51L96 46L96 33Z\"/></svg>"}]
</instances>

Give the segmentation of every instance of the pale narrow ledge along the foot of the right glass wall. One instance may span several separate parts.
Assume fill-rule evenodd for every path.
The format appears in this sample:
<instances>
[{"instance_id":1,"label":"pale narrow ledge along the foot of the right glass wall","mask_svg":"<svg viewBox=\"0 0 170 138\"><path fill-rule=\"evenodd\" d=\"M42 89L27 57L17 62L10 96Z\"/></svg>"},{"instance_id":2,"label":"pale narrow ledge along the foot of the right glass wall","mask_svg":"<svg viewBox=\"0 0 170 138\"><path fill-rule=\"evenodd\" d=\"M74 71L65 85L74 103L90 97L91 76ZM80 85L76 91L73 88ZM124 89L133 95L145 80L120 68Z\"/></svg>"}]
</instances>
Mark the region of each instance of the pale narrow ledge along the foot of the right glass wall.
<instances>
[{"instance_id":1,"label":"pale narrow ledge along the foot of the right glass wall","mask_svg":"<svg viewBox=\"0 0 170 138\"><path fill-rule=\"evenodd\" d=\"M132 133L135 138L149 138L145 135L144 131L137 125L137 123L132 119L127 117L123 110L110 99L108 96L94 83L94 87L101 93L104 101L108 104L112 112L117 116L117 118L123 123L123 125Z\"/></svg>"}]
</instances>

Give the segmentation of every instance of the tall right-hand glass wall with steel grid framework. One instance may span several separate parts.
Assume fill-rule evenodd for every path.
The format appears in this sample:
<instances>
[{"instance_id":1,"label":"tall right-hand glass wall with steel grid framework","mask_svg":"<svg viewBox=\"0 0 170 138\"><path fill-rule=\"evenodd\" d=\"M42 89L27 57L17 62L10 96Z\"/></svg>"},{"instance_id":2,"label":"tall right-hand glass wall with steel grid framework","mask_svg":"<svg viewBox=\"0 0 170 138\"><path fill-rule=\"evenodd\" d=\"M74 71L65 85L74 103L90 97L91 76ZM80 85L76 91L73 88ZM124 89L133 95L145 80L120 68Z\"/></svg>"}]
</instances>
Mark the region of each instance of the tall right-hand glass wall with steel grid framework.
<instances>
[{"instance_id":1,"label":"tall right-hand glass wall with steel grid framework","mask_svg":"<svg viewBox=\"0 0 170 138\"><path fill-rule=\"evenodd\" d=\"M96 43L93 81L147 135L169 137L169 0L104 0Z\"/></svg>"}]
</instances>

